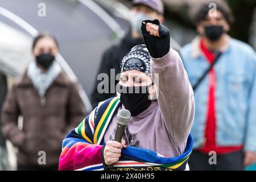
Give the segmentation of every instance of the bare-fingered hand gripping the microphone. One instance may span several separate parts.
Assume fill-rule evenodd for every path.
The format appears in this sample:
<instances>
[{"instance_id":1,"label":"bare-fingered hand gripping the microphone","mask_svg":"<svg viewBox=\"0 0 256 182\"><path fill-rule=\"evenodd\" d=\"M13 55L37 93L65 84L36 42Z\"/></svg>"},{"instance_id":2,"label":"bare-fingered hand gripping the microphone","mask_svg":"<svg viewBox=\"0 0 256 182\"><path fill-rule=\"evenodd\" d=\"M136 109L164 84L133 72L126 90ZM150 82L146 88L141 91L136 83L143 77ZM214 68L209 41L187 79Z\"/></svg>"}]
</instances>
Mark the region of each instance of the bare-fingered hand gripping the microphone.
<instances>
[{"instance_id":1,"label":"bare-fingered hand gripping the microphone","mask_svg":"<svg viewBox=\"0 0 256 182\"><path fill-rule=\"evenodd\" d=\"M104 160L106 165L114 164L121 157L121 149L126 148L125 140L122 139L122 142L108 141L104 148Z\"/></svg>"}]
</instances>

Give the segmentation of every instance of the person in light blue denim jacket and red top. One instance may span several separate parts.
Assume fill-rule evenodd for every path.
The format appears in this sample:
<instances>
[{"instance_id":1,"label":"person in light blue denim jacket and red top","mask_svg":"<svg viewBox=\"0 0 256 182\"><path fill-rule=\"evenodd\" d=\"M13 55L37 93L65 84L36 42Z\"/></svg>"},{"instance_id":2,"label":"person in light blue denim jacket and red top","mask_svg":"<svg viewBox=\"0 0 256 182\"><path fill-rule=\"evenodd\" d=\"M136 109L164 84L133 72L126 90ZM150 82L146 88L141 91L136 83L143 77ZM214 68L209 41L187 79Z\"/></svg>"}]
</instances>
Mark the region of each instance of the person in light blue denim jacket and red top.
<instances>
[{"instance_id":1,"label":"person in light blue denim jacket and red top","mask_svg":"<svg viewBox=\"0 0 256 182\"><path fill-rule=\"evenodd\" d=\"M256 56L227 34L232 21L224 1L204 2L195 14L199 36L181 49L196 104L191 170L243 170L256 159ZM217 154L212 165L210 151Z\"/></svg>"}]
</instances>

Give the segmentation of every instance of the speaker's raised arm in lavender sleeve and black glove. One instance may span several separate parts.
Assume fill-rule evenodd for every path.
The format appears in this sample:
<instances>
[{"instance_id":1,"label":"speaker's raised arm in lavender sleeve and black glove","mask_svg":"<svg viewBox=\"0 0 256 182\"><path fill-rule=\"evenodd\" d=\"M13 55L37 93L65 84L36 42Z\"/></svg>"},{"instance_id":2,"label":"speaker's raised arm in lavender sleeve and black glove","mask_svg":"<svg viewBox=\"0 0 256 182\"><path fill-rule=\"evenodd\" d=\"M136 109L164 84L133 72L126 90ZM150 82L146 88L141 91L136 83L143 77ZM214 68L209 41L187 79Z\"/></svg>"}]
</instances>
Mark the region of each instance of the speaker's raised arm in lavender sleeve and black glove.
<instances>
[{"instance_id":1,"label":"speaker's raised arm in lavender sleeve and black glove","mask_svg":"<svg viewBox=\"0 0 256 182\"><path fill-rule=\"evenodd\" d=\"M150 21L146 21L150 22ZM193 90L179 53L170 46L170 32L158 20L159 37L150 35L142 24L144 42L151 56L151 76L156 85L156 96L163 125L174 145L187 141L190 133L195 103Z\"/></svg>"}]
</instances>

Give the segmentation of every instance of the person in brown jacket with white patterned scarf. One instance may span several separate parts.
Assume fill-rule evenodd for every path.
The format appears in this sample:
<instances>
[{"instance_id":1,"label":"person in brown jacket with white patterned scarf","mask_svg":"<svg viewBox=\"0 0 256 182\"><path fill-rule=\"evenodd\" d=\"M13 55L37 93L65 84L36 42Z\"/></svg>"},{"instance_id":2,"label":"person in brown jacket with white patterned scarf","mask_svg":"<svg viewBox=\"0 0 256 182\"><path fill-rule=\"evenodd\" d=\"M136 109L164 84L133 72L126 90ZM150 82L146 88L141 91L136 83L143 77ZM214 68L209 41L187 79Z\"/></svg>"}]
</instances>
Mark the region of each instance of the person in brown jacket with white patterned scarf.
<instances>
[{"instance_id":1,"label":"person in brown jacket with white patterned scarf","mask_svg":"<svg viewBox=\"0 0 256 182\"><path fill-rule=\"evenodd\" d=\"M53 36L38 35L32 45L35 60L15 81L3 104L1 129L19 149L18 170L57 170L61 141L86 114L77 84L55 60L58 51ZM39 151L46 152L46 164L39 164Z\"/></svg>"}]
</instances>

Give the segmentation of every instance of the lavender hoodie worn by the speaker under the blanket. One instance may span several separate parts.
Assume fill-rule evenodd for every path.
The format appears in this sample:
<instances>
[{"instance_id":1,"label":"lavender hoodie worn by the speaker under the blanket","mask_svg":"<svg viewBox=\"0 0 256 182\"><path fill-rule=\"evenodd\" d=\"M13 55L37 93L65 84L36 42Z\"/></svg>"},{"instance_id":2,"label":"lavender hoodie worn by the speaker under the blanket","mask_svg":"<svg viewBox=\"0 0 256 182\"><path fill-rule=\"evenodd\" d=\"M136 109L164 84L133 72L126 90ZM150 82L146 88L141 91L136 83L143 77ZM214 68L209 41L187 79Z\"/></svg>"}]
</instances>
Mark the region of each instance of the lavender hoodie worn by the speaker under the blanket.
<instances>
[{"instance_id":1,"label":"lavender hoodie worn by the speaker under the blanket","mask_svg":"<svg viewBox=\"0 0 256 182\"><path fill-rule=\"evenodd\" d=\"M172 48L159 59L151 56L153 80L154 73L159 75L159 84L155 82L159 89L158 100L142 113L131 117L123 138L129 146L147 148L166 157L179 156L185 150L193 123L193 90L180 56ZM104 142L114 139L116 126L117 114L106 130Z\"/></svg>"}]
</instances>

